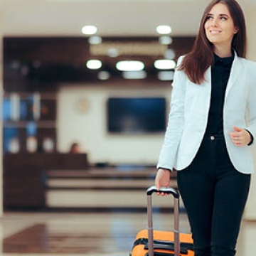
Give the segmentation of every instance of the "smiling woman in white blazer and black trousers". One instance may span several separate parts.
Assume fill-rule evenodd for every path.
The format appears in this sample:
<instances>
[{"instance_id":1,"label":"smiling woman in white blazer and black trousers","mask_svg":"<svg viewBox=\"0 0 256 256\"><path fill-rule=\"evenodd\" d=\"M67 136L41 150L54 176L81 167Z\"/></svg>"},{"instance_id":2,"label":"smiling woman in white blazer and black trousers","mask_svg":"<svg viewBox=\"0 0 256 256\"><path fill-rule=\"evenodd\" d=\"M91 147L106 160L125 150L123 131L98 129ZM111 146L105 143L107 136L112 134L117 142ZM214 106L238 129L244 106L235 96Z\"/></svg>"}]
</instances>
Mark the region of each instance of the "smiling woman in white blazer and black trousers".
<instances>
[{"instance_id":1,"label":"smiling woman in white blazer and black trousers","mask_svg":"<svg viewBox=\"0 0 256 256\"><path fill-rule=\"evenodd\" d=\"M239 4L213 0L174 75L155 184L169 186L177 170L196 256L235 255L256 135L256 63L245 45Z\"/></svg>"}]
</instances>

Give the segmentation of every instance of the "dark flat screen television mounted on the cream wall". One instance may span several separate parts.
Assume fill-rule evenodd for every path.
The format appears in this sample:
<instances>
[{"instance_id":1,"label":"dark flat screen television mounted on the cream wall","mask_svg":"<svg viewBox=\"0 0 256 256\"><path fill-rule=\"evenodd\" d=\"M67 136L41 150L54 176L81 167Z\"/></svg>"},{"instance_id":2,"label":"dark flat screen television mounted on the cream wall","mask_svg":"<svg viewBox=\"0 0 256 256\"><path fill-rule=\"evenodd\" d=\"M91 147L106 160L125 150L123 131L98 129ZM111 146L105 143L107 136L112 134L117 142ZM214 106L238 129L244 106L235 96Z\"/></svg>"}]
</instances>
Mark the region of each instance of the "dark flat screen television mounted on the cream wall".
<instances>
[{"instance_id":1,"label":"dark flat screen television mounted on the cream wall","mask_svg":"<svg viewBox=\"0 0 256 256\"><path fill-rule=\"evenodd\" d=\"M110 97L107 100L107 131L145 134L166 129L164 97Z\"/></svg>"}]
</instances>

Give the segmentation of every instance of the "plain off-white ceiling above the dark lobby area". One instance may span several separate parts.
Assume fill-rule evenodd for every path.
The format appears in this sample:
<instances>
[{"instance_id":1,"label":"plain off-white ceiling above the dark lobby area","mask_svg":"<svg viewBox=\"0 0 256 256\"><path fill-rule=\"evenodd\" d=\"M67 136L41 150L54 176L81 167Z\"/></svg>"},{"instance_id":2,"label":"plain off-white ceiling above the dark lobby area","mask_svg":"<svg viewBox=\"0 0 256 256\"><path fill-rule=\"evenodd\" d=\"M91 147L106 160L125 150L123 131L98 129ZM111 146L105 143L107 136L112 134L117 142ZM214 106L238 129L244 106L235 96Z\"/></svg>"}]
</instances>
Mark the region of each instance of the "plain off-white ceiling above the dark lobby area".
<instances>
[{"instance_id":1,"label":"plain off-white ceiling above the dark lobby area","mask_svg":"<svg viewBox=\"0 0 256 256\"><path fill-rule=\"evenodd\" d=\"M209 0L2 0L4 36L81 36L95 25L100 36L194 36Z\"/></svg>"}]
</instances>

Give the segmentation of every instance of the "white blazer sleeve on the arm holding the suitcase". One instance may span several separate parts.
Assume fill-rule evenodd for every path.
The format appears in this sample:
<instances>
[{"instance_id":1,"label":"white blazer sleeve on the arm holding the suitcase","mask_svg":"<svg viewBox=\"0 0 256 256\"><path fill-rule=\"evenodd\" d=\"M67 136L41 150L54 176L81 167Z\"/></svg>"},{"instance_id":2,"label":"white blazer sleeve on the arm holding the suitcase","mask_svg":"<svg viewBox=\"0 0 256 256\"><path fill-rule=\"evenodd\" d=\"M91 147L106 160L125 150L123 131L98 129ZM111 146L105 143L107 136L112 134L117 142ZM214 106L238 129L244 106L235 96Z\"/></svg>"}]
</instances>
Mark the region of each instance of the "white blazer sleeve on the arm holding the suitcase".
<instances>
[{"instance_id":1,"label":"white blazer sleeve on the arm holding the suitcase","mask_svg":"<svg viewBox=\"0 0 256 256\"><path fill-rule=\"evenodd\" d=\"M177 65L181 64L182 58L178 58ZM186 75L183 70L175 71L172 87L168 124L164 136L164 143L159 154L159 161L156 165L157 169L162 168L171 171L174 169L176 154L184 126Z\"/></svg>"}]
</instances>

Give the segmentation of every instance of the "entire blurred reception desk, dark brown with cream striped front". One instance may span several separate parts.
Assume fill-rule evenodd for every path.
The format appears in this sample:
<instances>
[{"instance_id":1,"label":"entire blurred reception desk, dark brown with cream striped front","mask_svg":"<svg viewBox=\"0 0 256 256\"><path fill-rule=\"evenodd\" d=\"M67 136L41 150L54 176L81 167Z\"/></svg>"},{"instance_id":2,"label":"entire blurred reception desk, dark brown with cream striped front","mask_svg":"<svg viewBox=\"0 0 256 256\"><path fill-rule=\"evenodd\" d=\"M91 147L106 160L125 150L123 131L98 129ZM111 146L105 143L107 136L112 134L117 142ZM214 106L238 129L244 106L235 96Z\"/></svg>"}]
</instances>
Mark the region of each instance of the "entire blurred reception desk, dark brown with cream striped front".
<instances>
[{"instance_id":1,"label":"entire blurred reception desk, dark brown with cream striped front","mask_svg":"<svg viewBox=\"0 0 256 256\"><path fill-rule=\"evenodd\" d=\"M4 159L6 210L145 210L151 166L90 166L85 154L24 154ZM176 188L176 173L170 186ZM172 200L154 206L170 209Z\"/></svg>"}]
</instances>

